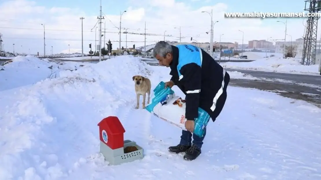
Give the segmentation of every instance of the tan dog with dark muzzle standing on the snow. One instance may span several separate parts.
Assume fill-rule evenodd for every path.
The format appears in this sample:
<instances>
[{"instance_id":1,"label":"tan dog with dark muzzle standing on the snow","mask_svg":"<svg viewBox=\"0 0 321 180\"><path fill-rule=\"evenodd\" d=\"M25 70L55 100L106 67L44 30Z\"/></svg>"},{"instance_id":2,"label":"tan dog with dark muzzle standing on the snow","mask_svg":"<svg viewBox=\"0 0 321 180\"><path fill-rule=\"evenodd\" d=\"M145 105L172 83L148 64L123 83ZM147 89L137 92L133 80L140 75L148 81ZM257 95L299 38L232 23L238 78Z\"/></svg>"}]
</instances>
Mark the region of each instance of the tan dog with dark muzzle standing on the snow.
<instances>
[{"instance_id":1,"label":"tan dog with dark muzzle standing on the snow","mask_svg":"<svg viewBox=\"0 0 321 180\"><path fill-rule=\"evenodd\" d=\"M139 97L143 96L143 108L145 108L146 93L148 94L147 104L149 104L150 94L151 94L151 80L140 75L133 76L133 81L135 82L135 92L137 98L136 109L139 108Z\"/></svg>"}]
</instances>

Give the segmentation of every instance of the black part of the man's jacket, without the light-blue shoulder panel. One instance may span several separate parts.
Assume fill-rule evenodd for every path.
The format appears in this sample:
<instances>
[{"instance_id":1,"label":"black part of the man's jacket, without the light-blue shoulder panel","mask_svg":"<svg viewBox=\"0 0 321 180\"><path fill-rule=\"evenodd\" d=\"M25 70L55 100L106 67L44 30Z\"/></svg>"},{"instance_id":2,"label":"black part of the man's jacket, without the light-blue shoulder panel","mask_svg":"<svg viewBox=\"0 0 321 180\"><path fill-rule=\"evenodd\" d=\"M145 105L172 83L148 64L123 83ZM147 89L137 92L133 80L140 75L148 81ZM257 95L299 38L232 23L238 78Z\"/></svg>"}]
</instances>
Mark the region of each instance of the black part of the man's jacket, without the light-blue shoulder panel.
<instances>
[{"instance_id":1,"label":"black part of the man's jacket, without the light-blue shoulder panel","mask_svg":"<svg viewBox=\"0 0 321 180\"><path fill-rule=\"evenodd\" d=\"M179 49L173 48L173 60L170 64L170 79L186 95L186 114L187 120L195 120L198 117L198 107L204 109L215 121L225 104L227 97L227 85L230 82L230 75L225 72L207 52L202 50L203 62L202 67L195 63L190 63L180 69L180 74L184 78L179 81L178 77L178 57ZM223 72L225 72L224 85L222 87ZM213 98L222 89L220 98L215 101L216 108L213 106ZM188 91L200 90L199 93L187 93ZM211 109L212 107L212 109ZM215 108L213 110L213 107Z\"/></svg>"}]
</instances>

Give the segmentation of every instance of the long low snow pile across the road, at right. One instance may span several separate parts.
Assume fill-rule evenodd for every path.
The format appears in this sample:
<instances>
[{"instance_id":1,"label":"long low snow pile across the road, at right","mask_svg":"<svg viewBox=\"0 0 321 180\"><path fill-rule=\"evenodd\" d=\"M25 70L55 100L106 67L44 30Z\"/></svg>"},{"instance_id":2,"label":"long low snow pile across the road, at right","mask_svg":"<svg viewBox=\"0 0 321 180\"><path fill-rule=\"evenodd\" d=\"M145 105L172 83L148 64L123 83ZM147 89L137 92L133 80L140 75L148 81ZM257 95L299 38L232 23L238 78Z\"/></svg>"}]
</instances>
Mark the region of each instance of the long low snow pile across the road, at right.
<instances>
[{"instance_id":1,"label":"long low snow pile across the road, at right","mask_svg":"<svg viewBox=\"0 0 321 180\"><path fill-rule=\"evenodd\" d=\"M297 58L283 59L280 57L270 57L258 59L252 62L226 62L221 63L224 68L246 69L256 71L269 71L295 74L320 74L319 65L304 66L300 64L301 60Z\"/></svg>"}]
</instances>

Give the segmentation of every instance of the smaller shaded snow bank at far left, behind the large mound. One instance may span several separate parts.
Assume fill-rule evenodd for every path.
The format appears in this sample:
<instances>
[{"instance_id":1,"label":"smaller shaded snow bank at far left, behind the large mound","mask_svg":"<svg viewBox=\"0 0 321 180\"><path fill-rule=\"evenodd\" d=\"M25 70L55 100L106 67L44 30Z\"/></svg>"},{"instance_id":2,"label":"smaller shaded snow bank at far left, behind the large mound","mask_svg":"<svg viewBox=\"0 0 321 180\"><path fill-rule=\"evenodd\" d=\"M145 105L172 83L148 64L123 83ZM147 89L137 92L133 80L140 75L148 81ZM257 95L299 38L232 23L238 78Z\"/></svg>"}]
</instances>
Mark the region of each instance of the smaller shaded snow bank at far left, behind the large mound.
<instances>
[{"instance_id":1,"label":"smaller shaded snow bank at far left, behind the large mound","mask_svg":"<svg viewBox=\"0 0 321 180\"><path fill-rule=\"evenodd\" d=\"M59 72L75 70L79 64L54 63L50 59L34 56L17 56L0 67L0 91L33 84L46 78L59 77Z\"/></svg>"}]
</instances>

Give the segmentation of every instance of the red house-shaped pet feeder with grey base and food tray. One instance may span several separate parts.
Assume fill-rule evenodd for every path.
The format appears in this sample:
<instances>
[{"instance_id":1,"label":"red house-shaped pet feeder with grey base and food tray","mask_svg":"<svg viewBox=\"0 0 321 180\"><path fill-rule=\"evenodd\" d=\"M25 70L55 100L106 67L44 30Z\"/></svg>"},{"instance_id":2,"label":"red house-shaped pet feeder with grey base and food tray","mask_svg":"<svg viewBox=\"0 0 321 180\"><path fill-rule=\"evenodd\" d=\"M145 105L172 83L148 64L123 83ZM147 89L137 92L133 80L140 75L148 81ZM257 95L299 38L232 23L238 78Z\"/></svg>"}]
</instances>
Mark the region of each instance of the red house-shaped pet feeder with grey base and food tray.
<instances>
[{"instance_id":1,"label":"red house-shaped pet feeder with grey base and food tray","mask_svg":"<svg viewBox=\"0 0 321 180\"><path fill-rule=\"evenodd\" d=\"M142 159L143 148L131 140L124 141L125 129L116 116L108 116L98 123L100 153L110 165Z\"/></svg>"}]
</instances>

